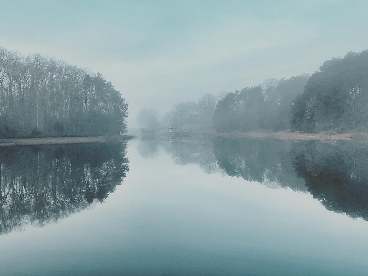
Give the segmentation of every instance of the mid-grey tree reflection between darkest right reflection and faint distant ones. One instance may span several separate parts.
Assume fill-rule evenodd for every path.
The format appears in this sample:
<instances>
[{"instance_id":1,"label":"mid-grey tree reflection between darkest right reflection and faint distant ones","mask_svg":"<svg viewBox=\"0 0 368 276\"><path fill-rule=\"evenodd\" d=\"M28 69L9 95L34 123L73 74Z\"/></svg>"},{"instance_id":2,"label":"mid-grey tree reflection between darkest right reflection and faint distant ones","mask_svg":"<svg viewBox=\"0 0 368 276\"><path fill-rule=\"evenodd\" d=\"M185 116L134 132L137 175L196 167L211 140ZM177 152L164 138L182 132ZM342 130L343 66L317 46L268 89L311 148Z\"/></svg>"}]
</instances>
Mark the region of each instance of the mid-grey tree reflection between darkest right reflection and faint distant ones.
<instances>
[{"instance_id":1,"label":"mid-grey tree reflection between darkest right reflection and faint distant ones","mask_svg":"<svg viewBox=\"0 0 368 276\"><path fill-rule=\"evenodd\" d=\"M229 176L242 177L269 187L304 191L305 181L298 177L293 166L294 144L276 139L217 137L213 142L213 151L220 168Z\"/></svg>"}]
</instances>

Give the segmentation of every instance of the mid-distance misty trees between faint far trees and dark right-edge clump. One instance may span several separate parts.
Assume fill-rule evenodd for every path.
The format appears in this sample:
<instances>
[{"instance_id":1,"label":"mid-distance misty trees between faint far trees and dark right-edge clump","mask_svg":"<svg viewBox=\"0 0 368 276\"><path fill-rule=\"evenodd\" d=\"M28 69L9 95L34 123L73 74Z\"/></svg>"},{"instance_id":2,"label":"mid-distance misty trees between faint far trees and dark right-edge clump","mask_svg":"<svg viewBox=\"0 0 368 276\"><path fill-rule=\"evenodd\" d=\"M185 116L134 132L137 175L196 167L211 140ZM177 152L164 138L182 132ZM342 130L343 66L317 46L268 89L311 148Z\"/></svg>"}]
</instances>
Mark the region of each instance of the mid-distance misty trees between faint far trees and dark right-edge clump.
<instances>
[{"instance_id":1,"label":"mid-distance misty trees between faint far trees and dark right-edge clump","mask_svg":"<svg viewBox=\"0 0 368 276\"><path fill-rule=\"evenodd\" d=\"M289 129L293 100L303 92L308 77L268 79L262 85L227 93L217 103L213 126L218 132Z\"/></svg>"}]
</instances>

